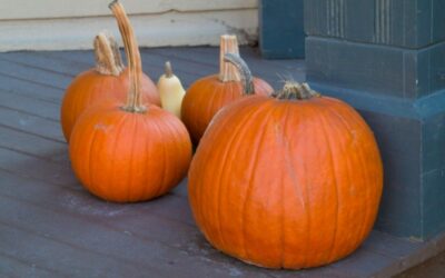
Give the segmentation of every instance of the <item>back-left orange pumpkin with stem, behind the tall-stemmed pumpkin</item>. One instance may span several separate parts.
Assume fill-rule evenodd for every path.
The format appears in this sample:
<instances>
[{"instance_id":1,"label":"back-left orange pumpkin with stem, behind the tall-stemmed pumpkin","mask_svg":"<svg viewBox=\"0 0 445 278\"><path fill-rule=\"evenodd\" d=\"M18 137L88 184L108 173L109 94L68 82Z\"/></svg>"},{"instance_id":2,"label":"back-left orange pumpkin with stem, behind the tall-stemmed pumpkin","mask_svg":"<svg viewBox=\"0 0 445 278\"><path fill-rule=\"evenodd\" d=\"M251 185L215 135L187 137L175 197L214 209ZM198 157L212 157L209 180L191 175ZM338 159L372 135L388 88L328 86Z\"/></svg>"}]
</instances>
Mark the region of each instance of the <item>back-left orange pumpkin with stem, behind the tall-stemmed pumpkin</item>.
<instances>
[{"instance_id":1,"label":"back-left orange pumpkin with stem, behind the tall-stemmed pumpkin","mask_svg":"<svg viewBox=\"0 0 445 278\"><path fill-rule=\"evenodd\" d=\"M120 59L119 47L111 34L100 32L93 42L96 67L77 76L68 86L60 109L63 136L69 141L79 116L90 106L107 99L125 100L129 88L129 71ZM141 73L144 102L160 106L151 79Z\"/></svg>"}]
</instances>

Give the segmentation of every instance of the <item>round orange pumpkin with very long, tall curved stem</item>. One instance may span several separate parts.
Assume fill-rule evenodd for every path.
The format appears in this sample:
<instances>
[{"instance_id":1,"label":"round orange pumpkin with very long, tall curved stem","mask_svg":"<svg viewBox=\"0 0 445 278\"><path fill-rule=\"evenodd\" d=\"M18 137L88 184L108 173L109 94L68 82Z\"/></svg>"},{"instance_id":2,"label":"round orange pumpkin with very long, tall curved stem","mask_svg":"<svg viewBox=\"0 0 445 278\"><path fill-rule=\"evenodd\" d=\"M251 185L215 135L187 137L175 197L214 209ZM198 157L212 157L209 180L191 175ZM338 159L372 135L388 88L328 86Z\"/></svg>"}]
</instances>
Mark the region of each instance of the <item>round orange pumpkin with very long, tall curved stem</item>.
<instances>
[{"instance_id":1,"label":"round orange pumpkin with very long, tall curved stem","mask_svg":"<svg viewBox=\"0 0 445 278\"><path fill-rule=\"evenodd\" d=\"M132 202L161 196L185 177L191 141L170 112L142 105L140 54L123 7L110 4L129 59L127 102L106 101L87 109L71 133L71 166L91 193L109 201Z\"/></svg>"}]
</instances>

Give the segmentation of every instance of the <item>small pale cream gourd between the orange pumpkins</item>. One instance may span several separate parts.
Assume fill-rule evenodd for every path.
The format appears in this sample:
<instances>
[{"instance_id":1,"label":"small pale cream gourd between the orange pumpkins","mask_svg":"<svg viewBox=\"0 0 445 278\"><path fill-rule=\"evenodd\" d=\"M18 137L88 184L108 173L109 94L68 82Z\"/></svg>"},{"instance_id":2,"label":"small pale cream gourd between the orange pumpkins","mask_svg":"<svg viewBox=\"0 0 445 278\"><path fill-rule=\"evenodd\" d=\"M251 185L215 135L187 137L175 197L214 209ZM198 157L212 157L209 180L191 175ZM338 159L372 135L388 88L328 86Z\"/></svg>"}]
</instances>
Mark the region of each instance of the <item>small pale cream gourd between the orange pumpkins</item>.
<instances>
[{"instance_id":1,"label":"small pale cream gourd between the orange pumpkins","mask_svg":"<svg viewBox=\"0 0 445 278\"><path fill-rule=\"evenodd\" d=\"M169 61L166 62L165 73L159 78L157 87L161 107L180 118L180 109L186 91L179 78L175 76Z\"/></svg>"}]
</instances>

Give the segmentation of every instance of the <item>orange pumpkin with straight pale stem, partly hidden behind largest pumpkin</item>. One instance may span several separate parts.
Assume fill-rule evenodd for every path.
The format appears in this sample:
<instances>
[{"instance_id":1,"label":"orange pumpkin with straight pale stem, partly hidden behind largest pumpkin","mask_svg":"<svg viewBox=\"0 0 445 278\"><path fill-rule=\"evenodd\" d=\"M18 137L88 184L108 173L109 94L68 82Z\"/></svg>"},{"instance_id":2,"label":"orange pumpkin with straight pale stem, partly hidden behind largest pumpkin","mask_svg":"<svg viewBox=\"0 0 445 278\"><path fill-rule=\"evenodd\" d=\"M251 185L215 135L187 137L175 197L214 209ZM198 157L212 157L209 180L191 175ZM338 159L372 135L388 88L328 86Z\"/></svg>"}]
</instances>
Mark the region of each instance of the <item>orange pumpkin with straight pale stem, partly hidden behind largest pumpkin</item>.
<instances>
[{"instance_id":1,"label":"orange pumpkin with straight pale stem, partly hidden behind largest pumpkin","mask_svg":"<svg viewBox=\"0 0 445 278\"><path fill-rule=\"evenodd\" d=\"M214 116L228 103L241 98L244 89L236 67L224 61L226 53L239 54L236 36L220 37L219 76L208 76L194 82L182 100L181 119L197 143ZM254 78L254 92L269 95L271 87Z\"/></svg>"}]
</instances>

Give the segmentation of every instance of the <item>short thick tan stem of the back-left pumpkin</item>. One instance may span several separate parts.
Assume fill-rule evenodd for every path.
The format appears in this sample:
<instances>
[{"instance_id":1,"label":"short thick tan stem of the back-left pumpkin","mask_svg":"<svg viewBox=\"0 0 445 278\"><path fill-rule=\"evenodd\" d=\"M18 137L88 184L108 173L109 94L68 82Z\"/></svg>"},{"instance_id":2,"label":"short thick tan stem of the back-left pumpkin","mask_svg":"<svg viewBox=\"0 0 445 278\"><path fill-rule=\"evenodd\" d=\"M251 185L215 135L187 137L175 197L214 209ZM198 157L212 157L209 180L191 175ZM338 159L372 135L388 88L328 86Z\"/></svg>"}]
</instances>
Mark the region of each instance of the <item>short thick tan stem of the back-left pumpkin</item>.
<instances>
[{"instance_id":1,"label":"short thick tan stem of the back-left pumpkin","mask_svg":"<svg viewBox=\"0 0 445 278\"><path fill-rule=\"evenodd\" d=\"M101 75L119 76L123 70L119 47L107 31L98 33L93 41L96 70Z\"/></svg>"}]
</instances>

